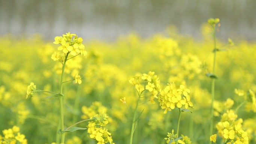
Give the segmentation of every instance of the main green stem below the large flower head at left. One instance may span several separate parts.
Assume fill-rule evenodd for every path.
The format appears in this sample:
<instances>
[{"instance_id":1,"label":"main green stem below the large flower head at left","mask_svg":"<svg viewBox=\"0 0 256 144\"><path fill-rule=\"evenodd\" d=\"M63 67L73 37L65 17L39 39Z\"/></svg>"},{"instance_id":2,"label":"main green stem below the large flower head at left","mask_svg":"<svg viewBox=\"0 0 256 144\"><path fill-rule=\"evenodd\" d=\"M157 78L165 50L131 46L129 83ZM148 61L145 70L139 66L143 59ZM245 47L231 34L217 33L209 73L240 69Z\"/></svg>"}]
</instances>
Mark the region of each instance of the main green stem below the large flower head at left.
<instances>
[{"instance_id":1,"label":"main green stem below the large flower head at left","mask_svg":"<svg viewBox=\"0 0 256 144\"><path fill-rule=\"evenodd\" d=\"M67 56L68 56L68 53L65 56L65 60L64 60L62 72L61 72L60 94L63 94L63 77L64 77L65 65L67 62ZM61 122L61 131L64 131L63 96L60 96L60 122ZM65 142L65 133L61 133L61 143L64 144L64 142Z\"/></svg>"}]
</instances>

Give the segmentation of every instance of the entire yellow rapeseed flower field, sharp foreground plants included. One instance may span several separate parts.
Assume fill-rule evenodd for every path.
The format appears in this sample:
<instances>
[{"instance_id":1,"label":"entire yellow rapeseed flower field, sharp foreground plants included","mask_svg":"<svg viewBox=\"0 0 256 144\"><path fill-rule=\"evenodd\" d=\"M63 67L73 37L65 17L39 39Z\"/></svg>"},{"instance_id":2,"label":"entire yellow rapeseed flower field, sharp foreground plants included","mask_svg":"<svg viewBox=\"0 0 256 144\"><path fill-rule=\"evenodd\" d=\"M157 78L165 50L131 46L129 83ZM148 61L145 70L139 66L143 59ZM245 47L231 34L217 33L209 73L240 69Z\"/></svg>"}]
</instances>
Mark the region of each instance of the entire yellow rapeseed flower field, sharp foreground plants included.
<instances>
[{"instance_id":1,"label":"entire yellow rapeseed flower field, sharp foreground plants included","mask_svg":"<svg viewBox=\"0 0 256 144\"><path fill-rule=\"evenodd\" d=\"M256 143L256 43L0 37L0 144ZM26 93L27 91L27 93Z\"/></svg>"}]
</instances>

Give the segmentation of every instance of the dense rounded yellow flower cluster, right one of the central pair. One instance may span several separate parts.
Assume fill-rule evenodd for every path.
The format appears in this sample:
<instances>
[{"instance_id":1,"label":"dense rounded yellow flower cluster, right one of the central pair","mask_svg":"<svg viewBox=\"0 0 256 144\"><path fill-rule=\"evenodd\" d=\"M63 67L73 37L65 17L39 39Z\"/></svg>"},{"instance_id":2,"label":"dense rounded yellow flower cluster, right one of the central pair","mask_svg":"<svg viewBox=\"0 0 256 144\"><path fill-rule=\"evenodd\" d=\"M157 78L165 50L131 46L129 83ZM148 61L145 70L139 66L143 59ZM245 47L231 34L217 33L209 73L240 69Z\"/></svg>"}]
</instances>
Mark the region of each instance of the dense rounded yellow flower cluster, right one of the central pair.
<instances>
[{"instance_id":1,"label":"dense rounded yellow flower cluster, right one of the central pair","mask_svg":"<svg viewBox=\"0 0 256 144\"><path fill-rule=\"evenodd\" d=\"M185 108L193 107L193 103L190 101L190 90L185 89L184 85L180 85L180 88L176 88L175 83L168 83L168 85L161 90L158 97L159 105L162 109L165 109L164 113L173 110L175 107Z\"/></svg>"}]
</instances>

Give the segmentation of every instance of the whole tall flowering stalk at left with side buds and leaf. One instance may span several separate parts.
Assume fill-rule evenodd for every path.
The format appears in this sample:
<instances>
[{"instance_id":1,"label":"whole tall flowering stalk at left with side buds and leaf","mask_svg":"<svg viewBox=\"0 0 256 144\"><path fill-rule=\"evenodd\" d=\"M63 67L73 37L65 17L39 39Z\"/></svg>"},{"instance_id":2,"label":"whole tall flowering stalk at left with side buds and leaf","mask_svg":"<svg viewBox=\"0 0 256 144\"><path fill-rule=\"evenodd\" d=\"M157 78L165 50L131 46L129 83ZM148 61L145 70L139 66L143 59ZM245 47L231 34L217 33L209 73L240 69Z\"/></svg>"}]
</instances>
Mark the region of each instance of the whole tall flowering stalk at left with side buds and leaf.
<instances>
[{"instance_id":1,"label":"whole tall flowering stalk at left with side buds and leaf","mask_svg":"<svg viewBox=\"0 0 256 144\"><path fill-rule=\"evenodd\" d=\"M65 66L66 62L74 58L78 55L83 55L86 56L87 52L85 51L85 46L82 44L83 39L81 37L77 37L76 34L70 34L66 33L63 34L63 36L57 36L55 37L55 42L54 44L60 44L61 46L58 47L58 51L55 51L54 54L52 54L51 58L54 61L60 61L62 64L62 70L61 70L61 80L60 80L60 93L55 94L54 92L49 92L49 91L42 91L40 89L36 89L36 85L34 83L30 83L27 89L27 97L28 96L33 96L36 92L47 92L53 94L52 96L48 96L48 98L51 97L59 97L60 100L60 131L58 131L59 134L61 134L61 140L59 140L59 137L57 137L57 143L64 144L65 143L65 132L68 131L71 127L64 128L64 94L63 94L63 84L65 82L70 82L75 80L76 83L81 84L81 76L76 74L74 79L68 80L64 82L64 74L65 74ZM71 56L69 56L71 55ZM68 57L69 56L69 57ZM84 129L84 128L72 128L72 131L76 131L79 129Z\"/></svg>"}]
</instances>

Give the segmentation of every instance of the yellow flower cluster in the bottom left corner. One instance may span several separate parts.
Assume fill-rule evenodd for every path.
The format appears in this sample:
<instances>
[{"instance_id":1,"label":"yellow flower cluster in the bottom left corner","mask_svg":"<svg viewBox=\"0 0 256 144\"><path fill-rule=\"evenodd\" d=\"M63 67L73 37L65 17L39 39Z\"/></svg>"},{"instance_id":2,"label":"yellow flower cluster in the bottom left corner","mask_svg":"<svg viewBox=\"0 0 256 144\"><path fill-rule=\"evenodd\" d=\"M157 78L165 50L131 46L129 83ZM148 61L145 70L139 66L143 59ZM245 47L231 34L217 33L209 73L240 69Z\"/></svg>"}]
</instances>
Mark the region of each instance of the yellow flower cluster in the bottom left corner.
<instances>
[{"instance_id":1,"label":"yellow flower cluster in the bottom left corner","mask_svg":"<svg viewBox=\"0 0 256 144\"><path fill-rule=\"evenodd\" d=\"M18 142L17 142L18 141ZM0 135L0 144L27 144L25 135L19 132L18 126L3 130L3 137Z\"/></svg>"}]
</instances>

